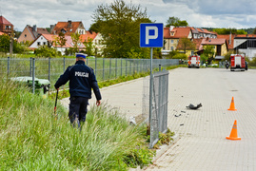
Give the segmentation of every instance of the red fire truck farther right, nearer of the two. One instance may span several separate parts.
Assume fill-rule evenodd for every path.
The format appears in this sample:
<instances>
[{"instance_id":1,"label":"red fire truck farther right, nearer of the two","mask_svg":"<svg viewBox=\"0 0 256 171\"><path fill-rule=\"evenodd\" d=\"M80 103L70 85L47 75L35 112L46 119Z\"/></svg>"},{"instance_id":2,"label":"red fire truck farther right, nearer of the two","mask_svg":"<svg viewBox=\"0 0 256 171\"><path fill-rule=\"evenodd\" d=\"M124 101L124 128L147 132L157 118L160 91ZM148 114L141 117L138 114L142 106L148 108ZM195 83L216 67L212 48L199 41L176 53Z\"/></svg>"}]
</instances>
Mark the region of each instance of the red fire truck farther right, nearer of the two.
<instances>
[{"instance_id":1,"label":"red fire truck farther right, nearer of the two","mask_svg":"<svg viewBox=\"0 0 256 171\"><path fill-rule=\"evenodd\" d=\"M230 56L230 70L240 69L247 70L245 54L231 54Z\"/></svg>"}]
</instances>

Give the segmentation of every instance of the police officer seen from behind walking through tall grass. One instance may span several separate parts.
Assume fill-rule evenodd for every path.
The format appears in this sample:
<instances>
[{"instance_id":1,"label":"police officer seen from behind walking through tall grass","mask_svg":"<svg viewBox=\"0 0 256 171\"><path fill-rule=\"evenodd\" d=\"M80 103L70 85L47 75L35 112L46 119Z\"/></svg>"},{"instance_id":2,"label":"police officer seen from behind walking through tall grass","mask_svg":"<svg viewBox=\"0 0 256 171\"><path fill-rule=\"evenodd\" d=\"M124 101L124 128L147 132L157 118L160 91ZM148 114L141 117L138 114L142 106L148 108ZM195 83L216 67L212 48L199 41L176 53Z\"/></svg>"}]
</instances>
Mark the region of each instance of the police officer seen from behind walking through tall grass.
<instances>
[{"instance_id":1,"label":"police officer seen from behind walking through tall grass","mask_svg":"<svg viewBox=\"0 0 256 171\"><path fill-rule=\"evenodd\" d=\"M75 65L69 66L54 85L58 89L69 81L69 120L73 126L77 123L78 127L86 122L91 88L96 96L97 106L101 104L102 99L93 69L86 66L85 61L85 54L76 53Z\"/></svg>"}]
</instances>

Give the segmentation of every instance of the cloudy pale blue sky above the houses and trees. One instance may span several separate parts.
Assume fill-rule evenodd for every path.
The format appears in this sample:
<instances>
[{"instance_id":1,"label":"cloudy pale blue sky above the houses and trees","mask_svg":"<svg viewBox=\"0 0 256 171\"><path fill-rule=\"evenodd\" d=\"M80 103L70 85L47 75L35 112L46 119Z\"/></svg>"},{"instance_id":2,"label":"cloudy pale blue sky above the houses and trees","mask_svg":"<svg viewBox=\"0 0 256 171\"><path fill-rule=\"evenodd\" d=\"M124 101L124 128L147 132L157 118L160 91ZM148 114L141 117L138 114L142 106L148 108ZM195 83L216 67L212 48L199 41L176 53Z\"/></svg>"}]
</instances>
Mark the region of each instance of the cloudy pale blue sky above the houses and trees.
<instances>
[{"instance_id":1,"label":"cloudy pale blue sky above the houses and trees","mask_svg":"<svg viewBox=\"0 0 256 171\"><path fill-rule=\"evenodd\" d=\"M167 24L168 17L186 20L196 28L255 28L255 0L124 0L147 9L156 23ZM22 31L27 25L49 28L58 22L82 21L89 30L92 15L100 5L114 0L0 0L1 14Z\"/></svg>"}]
</instances>

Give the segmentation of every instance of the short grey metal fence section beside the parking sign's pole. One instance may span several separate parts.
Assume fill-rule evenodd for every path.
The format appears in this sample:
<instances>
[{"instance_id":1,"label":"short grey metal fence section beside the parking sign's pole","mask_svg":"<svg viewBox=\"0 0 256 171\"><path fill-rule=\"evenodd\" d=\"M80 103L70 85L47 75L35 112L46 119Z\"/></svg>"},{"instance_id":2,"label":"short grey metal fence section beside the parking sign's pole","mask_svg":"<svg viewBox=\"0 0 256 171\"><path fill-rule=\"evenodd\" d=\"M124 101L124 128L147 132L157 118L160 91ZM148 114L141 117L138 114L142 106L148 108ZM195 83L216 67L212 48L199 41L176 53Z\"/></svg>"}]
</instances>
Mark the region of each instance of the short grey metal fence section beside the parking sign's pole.
<instances>
[{"instance_id":1,"label":"short grey metal fence section beside the parking sign's pole","mask_svg":"<svg viewBox=\"0 0 256 171\"><path fill-rule=\"evenodd\" d=\"M149 79L144 80L142 116L150 125L149 148L158 142L159 132L167 132L168 71L153 74L152 109L149 113Z\"/></svg>"}]
</instances>

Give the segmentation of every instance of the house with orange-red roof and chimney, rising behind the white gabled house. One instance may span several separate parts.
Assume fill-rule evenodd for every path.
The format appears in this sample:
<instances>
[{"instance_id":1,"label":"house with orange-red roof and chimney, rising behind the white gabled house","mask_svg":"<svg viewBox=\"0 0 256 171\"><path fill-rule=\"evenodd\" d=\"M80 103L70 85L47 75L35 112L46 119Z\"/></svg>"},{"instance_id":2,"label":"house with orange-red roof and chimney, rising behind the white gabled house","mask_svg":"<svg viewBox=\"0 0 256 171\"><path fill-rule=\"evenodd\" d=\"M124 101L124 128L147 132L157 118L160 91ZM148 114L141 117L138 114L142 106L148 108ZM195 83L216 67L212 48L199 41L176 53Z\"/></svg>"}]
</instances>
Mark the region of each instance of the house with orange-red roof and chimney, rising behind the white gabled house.
<instances>
[{"instance_id":1,"label":"house with orange-red roof and chimney, rising behind the white gabled house","mask_svg":"<svg viewBox=\"0 0 256 171\"><path fill-rule=\"evenodd\" d=\"M72 22L58 22L52 29L51 34L59 34L63 32L65 35L71 35L72 33L86 34L86 28L81 21Z\"/></svg>"}]
</instances>

